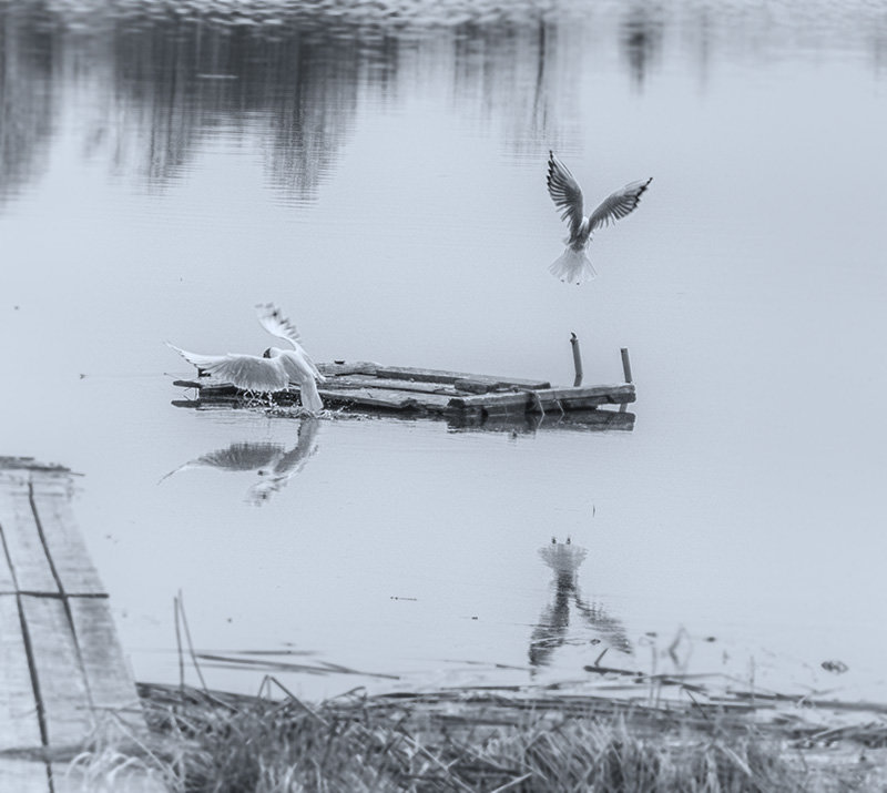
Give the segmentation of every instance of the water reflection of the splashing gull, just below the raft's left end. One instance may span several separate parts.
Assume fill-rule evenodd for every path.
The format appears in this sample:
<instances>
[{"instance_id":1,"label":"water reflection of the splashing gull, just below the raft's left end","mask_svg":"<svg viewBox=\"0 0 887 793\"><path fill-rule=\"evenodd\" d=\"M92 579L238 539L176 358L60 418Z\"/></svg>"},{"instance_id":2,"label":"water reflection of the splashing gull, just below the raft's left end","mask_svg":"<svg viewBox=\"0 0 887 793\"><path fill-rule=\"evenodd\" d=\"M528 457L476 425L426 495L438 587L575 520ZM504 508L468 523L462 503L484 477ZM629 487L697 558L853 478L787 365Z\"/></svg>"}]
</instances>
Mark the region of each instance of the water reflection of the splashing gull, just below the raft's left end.
<instances>
[{"instance_id":1,"label":"water reflection of the splashing gull, just below the raft's left end","mask_svg":"<svg viewBox=\"0 0 887 793\"><path fill-rule=\"evenodd\" d=\"M217 449L188 460L170 471L160 481L187 468L218 468L243 472L255 471L259 480L246 491L246 500L259 507L275 492L279 492L307 464L317 451L317 418L304 418L298 428L298 441L287 450L283 444L243 441L232 444L226 449Z\"/></svg>"}]
</instances>

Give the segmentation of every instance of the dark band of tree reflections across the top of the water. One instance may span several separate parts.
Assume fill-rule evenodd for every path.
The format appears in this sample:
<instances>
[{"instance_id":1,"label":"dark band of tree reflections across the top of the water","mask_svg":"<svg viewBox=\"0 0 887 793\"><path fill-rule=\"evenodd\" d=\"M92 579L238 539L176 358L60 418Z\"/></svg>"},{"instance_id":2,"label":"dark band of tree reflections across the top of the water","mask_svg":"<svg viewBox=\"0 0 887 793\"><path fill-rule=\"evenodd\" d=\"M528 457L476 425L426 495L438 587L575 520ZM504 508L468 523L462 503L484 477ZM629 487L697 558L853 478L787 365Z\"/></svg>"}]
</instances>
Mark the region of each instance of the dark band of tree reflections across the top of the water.
<instances>
[{"instance_id":1,"label":"dark band of tree reflections across the top of the water","mask_svg":"<svg viewBox=\"0 0 887 793\"><path fill-rule=\"evenodd\" d=\"M509 149L536 154L540 141L560 149L581 138L562 126L577 123L578 75L610 45L639 90L666 45L685 49L704 77L715 49L759 59L786 31L863 48L883 67L883 16L809 6L715 14L705 2L602 2L590 14L580 0L0 0L0 202L43 172L62 89L73 85L93 96L84 153L103 151L152 189L207 135L248 130L268 182L309 202L363 99L396 101L405 77L434 74L430 91L451 90L459 110L500 125Z\"/></svg>"}]
</instances>

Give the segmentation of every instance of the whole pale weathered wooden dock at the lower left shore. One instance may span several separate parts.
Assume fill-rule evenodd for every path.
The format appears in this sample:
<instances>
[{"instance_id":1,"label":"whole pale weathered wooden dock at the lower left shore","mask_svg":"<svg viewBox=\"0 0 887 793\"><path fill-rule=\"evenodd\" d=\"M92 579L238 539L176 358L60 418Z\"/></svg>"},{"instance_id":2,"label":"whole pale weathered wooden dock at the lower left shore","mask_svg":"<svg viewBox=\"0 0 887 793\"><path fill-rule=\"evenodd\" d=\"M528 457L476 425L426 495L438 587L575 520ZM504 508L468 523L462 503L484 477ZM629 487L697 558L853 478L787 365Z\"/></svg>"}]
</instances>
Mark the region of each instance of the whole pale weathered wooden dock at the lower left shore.
<instances>
[{"instance_id":1,"label":"whole pale weathered wooden dock at the lower left shore","mask_svg":"<svg viewBox=\"0 0 887 793\"><path fill-rule=\"evenodd\" d=\"M63 761L90 739L146 730L72 490L67 468L0 457L2 791L73 790Z\"/></svg>"}]
</instances>

